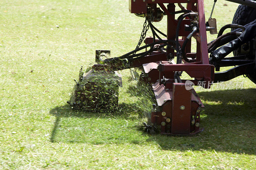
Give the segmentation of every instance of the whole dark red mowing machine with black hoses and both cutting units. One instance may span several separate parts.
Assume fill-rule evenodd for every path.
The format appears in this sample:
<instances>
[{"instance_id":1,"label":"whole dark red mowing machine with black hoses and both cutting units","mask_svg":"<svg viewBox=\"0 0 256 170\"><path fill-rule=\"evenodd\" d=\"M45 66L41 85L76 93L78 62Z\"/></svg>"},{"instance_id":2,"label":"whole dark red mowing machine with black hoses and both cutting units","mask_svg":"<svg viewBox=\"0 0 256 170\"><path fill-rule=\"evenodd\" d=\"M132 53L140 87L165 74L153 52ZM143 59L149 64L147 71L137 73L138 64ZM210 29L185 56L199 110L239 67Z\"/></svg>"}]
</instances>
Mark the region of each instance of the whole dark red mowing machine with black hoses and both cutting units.
<instances>
[{"instance_id":1,"label":"whole dark red mowing machine with black hoses and both cutting units","mask_svg":"<svg viewBox=\"0 0 256 170\"><path fill-rule=\"evenodd\" d=\"M213 2L212 12L216 1ZM136 49L114 58L110 57L109 50L96 50L98 64L93 65L91 70L81 68L74 101L68 103L79 109L115 107L118 104L118 88L122 86L122 78L117 71L141 67L140 81L150 85L156 98L150 122L144 124L145 129L165 135L202 132L200 110L204 104L193 89L194 85L209 89L213 83L240 75L256 83L256 1L228 1L240 5L233 23L218 32L212 12L205 21L203 0L129 0L129 11L145 18ZM180 7L179 11L175 11L175 5ZM164 15L167 16L166 34L153 25ZM175 15L179 17L175 18ZM153 36L146 38L149 28ZM230 28L231 32L223 34ZM207 42L206 31L216 34L217 38ZM196 52L191 52L192 38L196 39ZM146 45L141 46L143 40ZM232 52L234 57L227 58ZM220 71L220 67L227 66L234 67L214 73L215 70ZM181 79L183 72L192 79Z\"/></svg>"}]
</instances>

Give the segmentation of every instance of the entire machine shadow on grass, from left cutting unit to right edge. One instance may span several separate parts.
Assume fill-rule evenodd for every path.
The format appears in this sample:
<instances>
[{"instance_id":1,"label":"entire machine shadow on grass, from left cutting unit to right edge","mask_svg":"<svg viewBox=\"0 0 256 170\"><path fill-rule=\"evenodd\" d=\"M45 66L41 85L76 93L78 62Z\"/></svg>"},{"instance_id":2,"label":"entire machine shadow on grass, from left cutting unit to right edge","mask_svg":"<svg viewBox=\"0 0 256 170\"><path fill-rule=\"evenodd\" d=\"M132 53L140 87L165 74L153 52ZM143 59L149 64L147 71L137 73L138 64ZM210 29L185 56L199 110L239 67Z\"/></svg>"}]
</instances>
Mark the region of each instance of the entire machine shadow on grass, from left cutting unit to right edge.
<instances>
[{"instance_id":1,"label":"entire machine shadow on grass, from left cutting unit to right edge","mask_svg":"<svg viewBox=\"0 0 256 170\"><path fill-rule=\"evenodd\" d=\"M195 136L148 135L142 132L135 105L123 104L125 109L119 113L75 112L65 105L50 111L56 115L51 141L157 143L163 150L256 154L256 89L206 91L198 95L205 105L200 122L205 130Z\"/></svg>"}]
</instances>

